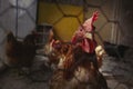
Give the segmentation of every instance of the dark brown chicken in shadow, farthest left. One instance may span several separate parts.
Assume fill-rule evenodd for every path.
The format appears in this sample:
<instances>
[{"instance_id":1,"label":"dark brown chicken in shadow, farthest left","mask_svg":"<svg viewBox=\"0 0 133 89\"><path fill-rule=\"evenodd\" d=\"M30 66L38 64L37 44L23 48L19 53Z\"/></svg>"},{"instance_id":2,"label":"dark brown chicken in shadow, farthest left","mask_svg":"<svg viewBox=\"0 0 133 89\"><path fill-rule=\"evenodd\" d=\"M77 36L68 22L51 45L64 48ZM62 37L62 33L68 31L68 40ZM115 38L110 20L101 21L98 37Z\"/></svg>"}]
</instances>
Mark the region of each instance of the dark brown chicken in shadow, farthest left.
<instances>
[{"instance_id":1,"label":"dark brown chicken in shadow, farthest left","mask_svg":"<svg viewBox=\"0 0 133 89\"><path fill-rule=\"evenodd\" d=\"M34 34L28 34L23 41L18 41L10 31L7 34L6 55L12 67L31 67L35 56L37 46Z\"/></svg>"}]
</instances>

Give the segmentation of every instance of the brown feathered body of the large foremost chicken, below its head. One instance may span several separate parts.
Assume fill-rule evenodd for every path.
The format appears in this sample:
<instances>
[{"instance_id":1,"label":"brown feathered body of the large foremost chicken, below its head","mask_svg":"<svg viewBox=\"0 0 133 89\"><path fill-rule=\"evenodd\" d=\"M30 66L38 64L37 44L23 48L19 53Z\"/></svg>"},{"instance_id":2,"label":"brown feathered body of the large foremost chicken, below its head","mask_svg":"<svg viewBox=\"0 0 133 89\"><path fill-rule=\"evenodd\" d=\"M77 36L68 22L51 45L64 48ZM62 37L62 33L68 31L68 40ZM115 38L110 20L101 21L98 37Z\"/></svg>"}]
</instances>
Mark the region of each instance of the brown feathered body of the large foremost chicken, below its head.
<instances>
[{"instance_id":1,"label":"brown feathered body of the large foremost chicken, below its head","mask_svg":"<svg viewBox=\"0 0 133 89\"><path fill-rule=\"evenodd\" d=\"M102 73L94 69L81 47L60 40L52 47L59 63L50 80L50 89L108 89Z\"/></svg>"}]
</instances>

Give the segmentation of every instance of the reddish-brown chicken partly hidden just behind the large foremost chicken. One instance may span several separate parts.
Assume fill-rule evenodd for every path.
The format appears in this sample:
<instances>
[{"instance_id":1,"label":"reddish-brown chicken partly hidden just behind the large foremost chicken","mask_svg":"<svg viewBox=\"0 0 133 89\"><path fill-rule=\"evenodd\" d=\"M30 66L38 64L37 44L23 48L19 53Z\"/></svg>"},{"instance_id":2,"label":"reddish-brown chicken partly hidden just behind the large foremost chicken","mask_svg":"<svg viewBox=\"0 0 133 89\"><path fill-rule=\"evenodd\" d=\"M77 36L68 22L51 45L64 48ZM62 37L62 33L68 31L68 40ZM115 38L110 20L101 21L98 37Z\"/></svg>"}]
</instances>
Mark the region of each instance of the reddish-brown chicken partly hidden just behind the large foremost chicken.
<instances>
[{"instance_id":1,"label":"reddish-brown chicken partly hidden just behind the large foremost chicken","mask_svg":"<svg viewBox=\"0 0 133 89\"><path fill-rule=\"evenodd\" d=\"M49 66L53 66L53 69L62 68L63 57L65 58L69 48L69 44L63 44L60 40L53 39L50 43L47 43L44 46L44 53L49 58Z\"/></svg>"}]
</instances>

